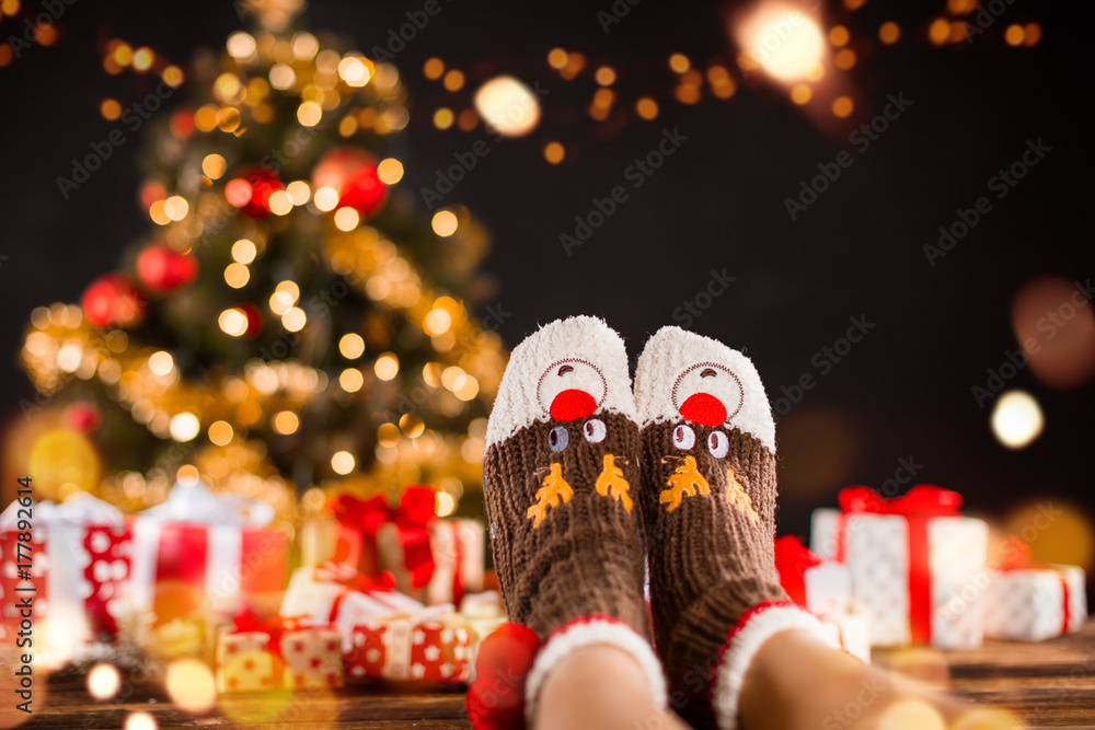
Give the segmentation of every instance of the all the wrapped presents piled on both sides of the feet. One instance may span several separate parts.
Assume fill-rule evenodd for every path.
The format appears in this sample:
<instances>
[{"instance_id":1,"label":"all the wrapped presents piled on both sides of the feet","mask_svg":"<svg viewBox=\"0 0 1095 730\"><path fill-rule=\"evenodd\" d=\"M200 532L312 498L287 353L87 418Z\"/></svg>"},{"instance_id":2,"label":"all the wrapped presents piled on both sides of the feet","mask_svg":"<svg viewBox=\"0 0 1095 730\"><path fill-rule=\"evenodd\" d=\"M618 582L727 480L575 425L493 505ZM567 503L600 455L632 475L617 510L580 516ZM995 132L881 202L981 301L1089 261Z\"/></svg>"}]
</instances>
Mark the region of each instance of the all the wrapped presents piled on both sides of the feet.
<instances>
[{"instance_id":1,"label":"all the wrapped presents piled on both sides of the feet","mask_svg":"<svg viewBox=\"0 0 1095 730\"><path fill-rule=\"evenodd\" d=\"M866 661L872 647L1077 630L1083 569L1033 563L1014 538L990 567L988 525L960 501L930 485L894 499L844 489L840 509L815 511L809 549L776 541L780 581ZM484 590L483 524L436 517L426 487L395 505L342 495L304 520L295 549L268 506L200 483L128 518L87 494L35 503L31 520L21 509L0 514L3 624L18 626L18 603L33 595L35 661L47 668L128 631L161 658L209 661L224 693L461 683L505 622L497 591Z\"/></svg>"}]
</instances>

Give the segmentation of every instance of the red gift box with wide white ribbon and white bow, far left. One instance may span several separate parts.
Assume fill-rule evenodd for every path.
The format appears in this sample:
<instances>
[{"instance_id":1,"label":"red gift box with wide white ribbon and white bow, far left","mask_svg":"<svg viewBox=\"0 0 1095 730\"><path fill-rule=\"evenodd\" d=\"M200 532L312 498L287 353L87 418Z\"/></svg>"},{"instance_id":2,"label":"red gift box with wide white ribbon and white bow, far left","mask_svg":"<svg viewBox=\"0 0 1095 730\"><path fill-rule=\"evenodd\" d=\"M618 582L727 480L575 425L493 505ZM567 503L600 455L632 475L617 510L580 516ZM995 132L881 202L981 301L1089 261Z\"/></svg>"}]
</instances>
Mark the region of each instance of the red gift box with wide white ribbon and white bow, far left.
<instances>
[{"instance_id":1,"label":"red gift box with wide white ribbon and white bow, far left","mask_svg":"<svg viewBox=\"0 0 1095 730\"><path fill-rule=\"evenodd\" d=\"M274 509L200 482L176 484L168 500L134 520L130 594L136 609L153 606L155 588L178 581L208 596L214 611L234 614L247 603L276 609L285 590L289 543L268 525Z\"/></svg>"}]
</instances>

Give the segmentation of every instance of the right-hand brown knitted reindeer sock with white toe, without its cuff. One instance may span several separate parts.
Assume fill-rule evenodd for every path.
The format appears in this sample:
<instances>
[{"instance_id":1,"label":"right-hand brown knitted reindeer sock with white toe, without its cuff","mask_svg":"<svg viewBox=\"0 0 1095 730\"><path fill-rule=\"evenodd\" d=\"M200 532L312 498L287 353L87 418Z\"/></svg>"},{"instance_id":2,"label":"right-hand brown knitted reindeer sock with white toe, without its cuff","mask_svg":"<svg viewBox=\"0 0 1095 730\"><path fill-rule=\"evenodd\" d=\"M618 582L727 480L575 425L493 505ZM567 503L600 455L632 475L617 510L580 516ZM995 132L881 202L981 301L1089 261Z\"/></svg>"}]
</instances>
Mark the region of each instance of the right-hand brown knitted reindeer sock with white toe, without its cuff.
<instances>
[{"instance_id":1,"label":"right-hand brown knitted reindeer sock with white toe, without its cuff","mask_svg":"<svg viewBox=\"0 0 1095 730\"><path fill-rule=\"evenodd\" d=\"M679 327L646 344L635 401L655 646L675 709L711 727L728 633L750 609L787 600L773 547L775 424L749 359Z\"/></svg>"}]
</instances>

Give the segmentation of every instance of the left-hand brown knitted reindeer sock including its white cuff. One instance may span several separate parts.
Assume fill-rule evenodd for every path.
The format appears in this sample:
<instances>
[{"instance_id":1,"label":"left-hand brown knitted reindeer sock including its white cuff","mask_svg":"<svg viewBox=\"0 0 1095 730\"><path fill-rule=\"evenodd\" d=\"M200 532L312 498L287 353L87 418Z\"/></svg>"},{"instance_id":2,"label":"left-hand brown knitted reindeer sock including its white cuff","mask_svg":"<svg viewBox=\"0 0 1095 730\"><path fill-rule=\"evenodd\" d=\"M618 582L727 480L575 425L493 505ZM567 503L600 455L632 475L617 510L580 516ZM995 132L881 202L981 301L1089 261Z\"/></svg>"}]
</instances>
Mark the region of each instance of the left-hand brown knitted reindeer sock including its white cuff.
<instances>
[{"instance_id":1,"label":"left-hand brown knitted reindeer sock including its white cuff","mask_svg":"<svg viewBox=\"0 0 1095 730\"><path fill-rule=\"evenodd\" d=\"M602 321L544 325L514 349L486 432L483 489L511 621L546 638L527 714L570 650L612 644L665 702L647 635L639 517L642 451L623 340Z\"/></svg>"}]
</instances>

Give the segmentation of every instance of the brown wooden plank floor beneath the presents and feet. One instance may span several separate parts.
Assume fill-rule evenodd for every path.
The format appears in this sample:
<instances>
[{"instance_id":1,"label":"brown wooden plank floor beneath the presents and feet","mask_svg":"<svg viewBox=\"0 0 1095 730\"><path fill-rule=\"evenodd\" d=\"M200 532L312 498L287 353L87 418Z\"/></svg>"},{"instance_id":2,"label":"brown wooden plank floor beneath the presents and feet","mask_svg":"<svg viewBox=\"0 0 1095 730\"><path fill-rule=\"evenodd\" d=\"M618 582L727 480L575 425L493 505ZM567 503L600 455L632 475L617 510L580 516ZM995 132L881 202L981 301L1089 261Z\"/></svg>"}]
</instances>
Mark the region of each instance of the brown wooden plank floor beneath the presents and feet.
<instances>
[{"instance_id":1,"label":"brown wooden plank floor beneath the presents and feet","mask_svg":"<svg viewBox=\"0 0 1095 730\"><path fill-rule=\"evenodd\" d=\"M876 663L929 680L949 677L956 693L979 704L1013 710L1031 728L1095 728L1095 623L1072 636L1042 644L989 642L976 651L924 649L876 652ZM0 711L0 727L22 714ZM35 712L23 727L122 728L130 712L154 716L160 728L240 726L306 729L470 728L459 688L354 686L335 694L221 697L205 716L171 705L155 685L124 686L119 699L92 702L73 681L35 686ZM141 726L143 730L145 726Z\"/></svg>"}]
</instances>

